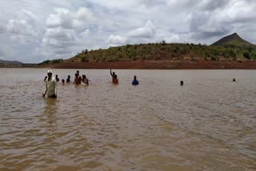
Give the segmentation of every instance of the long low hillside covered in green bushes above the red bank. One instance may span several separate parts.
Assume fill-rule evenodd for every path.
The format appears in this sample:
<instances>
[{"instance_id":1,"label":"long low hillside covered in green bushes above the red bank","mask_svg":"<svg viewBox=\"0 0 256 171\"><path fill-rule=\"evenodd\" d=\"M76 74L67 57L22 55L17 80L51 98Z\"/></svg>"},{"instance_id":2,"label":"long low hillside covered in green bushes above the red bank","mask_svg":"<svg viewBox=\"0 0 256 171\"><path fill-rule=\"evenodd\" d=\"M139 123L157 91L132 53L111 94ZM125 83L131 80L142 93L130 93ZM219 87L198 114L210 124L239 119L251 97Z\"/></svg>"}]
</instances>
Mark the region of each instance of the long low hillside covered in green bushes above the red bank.
<instances>
[{"instance_id":1,"label":"long low hillside covered in green bushes above the red bank","mask_svg":"<svg viewBox=\"0 0 256 171\"><path fill-rule=\"evenodd\" d=\"M72 62L115 62L135 60L255 60L256 46L222 45L206 46L193 43L159 43L110 47L106 50L82 50Z\"/></svg>"}]
</instances>

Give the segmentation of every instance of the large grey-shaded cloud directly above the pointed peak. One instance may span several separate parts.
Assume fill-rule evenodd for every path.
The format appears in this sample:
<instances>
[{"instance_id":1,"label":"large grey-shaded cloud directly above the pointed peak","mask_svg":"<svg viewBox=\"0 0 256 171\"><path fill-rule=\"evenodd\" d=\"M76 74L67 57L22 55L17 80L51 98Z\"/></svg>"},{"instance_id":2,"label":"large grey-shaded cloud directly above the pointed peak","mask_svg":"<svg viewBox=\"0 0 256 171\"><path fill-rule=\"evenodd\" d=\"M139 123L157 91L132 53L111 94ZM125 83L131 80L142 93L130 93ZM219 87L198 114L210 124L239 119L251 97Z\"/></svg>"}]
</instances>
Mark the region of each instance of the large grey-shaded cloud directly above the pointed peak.
<instances>
[{"instance_id":1,"label":"large grey-shaded cloud directly above the pointed peak","mask_svg":"<svg viewBox=\"0 0 256 171\"><path fill-rule=\"evenodd\" d=\"M214 1L206 1L202 3L204 9L206 4L214 4ZM219 6L218 6L219 5ZM249 1L230 0L223 3L218 1L214 5L214 9L208 7L208 11L198 10L194 14L190 14L190 32L194 33L194 38L208 39L220 38L226 34L231 34L241 30L243 34L243 27L246 23L251 23L254 26L256 22L256 4ZM247 30L250 29L247 25Z\"/></svg>"}]
</instances>

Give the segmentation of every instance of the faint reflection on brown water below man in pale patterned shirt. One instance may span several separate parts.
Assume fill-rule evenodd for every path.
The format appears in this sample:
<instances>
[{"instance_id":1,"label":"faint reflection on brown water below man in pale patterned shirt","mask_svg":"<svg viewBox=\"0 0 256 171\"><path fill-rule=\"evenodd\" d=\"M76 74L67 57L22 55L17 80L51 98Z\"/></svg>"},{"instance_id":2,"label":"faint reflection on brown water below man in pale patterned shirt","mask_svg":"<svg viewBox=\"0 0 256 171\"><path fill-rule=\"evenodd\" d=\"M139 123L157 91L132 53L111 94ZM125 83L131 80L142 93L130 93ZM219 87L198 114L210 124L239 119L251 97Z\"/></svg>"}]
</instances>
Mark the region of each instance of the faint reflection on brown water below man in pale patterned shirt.
<instances>
[{"instance_id":1,"label":"faint reflection on brown water below man in pale patterned shirt","mask_svg":"<svg viewBox=\"0 0 256 171\"><path fill-rule=\"evenodd\" d=\"M46 129L55 130L57 121L57 100L53 98L45 98L45 102L46 105L43 114L46 117Z\"/></svg>"}]
</instances>

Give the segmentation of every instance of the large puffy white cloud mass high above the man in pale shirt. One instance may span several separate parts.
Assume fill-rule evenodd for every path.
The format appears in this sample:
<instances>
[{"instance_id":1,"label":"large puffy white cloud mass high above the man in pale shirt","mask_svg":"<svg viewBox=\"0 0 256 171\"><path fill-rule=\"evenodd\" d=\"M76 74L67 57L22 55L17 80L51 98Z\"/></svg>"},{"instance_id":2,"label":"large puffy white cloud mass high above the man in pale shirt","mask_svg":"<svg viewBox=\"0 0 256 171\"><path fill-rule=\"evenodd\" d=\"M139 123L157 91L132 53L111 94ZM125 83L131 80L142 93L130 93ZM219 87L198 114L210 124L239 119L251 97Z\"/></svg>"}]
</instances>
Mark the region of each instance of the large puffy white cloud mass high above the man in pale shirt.
<instances>
[{"instance_id":1,"label":"large puffy white cloud mass high above the man in pale shirt","mask_svg":"<svg viewBox=\"0 0 256 171\"><path fill-rule=\"evenodd\" d=\"M71 57L86 48L88 42L92 42L89 39L91 32L90 29L83 28L90 26L94 20L93 12L86 7L79 7L74 11L55 8L54 14L46 18L46 33L42 38L45 55L58 57L66 54Z\"/></svg>"}]
</instances>

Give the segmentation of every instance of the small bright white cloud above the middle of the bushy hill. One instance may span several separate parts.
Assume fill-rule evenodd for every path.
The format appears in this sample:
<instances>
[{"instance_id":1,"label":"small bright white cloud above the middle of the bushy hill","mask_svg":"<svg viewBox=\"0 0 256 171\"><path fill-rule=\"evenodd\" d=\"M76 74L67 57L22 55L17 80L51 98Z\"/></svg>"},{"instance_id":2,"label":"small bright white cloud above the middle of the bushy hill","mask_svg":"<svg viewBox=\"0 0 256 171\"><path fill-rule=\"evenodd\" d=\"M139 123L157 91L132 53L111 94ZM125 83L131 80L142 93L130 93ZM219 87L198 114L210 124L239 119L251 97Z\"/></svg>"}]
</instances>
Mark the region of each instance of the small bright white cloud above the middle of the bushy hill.
<instances>
[{"instance_id":1,"label":"small bright white cloud above the middle of the bushy hill","mask_svg":"<svg viewBox=\"0 0 256 171\"><path fill-rule=\"evenodd\" d=\"M146 22L146 26L139 27L128 33L128 37L131 38L154 38L155 30L151 21Z\"/></svg>"}]
</instances>

